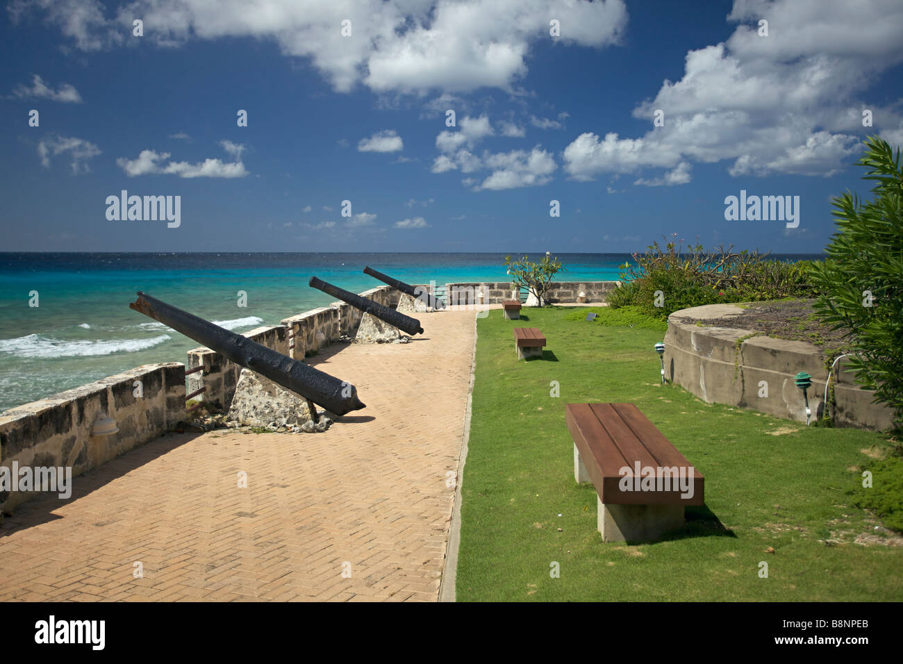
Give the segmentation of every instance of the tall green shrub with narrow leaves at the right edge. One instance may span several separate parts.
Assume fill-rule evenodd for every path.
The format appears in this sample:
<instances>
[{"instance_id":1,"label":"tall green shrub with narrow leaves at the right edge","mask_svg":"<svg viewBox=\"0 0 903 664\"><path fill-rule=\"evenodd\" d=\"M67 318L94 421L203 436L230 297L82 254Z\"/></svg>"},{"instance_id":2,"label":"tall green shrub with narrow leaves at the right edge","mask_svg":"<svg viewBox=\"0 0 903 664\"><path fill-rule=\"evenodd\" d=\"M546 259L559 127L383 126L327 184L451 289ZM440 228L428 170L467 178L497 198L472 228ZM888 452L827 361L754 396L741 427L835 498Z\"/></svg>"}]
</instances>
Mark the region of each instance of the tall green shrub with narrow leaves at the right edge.
<instances>
[{"instance_id":1,"label":"tall green shrub with narrow leaves at the right edge","mask_svg":"<svg viewBox=\"0 0 903 664\"><path fill-rule=\"evenodd\" d=\"M827 259L811 268L820 292L815 310L825 323L846 329L856 348L856 381L875 390L903 424L903 171L900 151L877 136L865 141L857 165L863 180L878 182L872 201L846 192L833 200L837 230Z\"/></svg>"}]
</instances>

